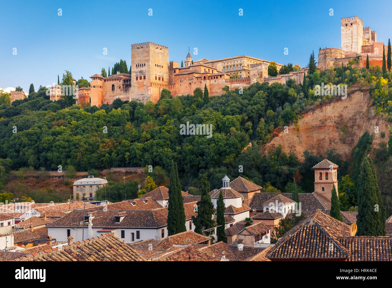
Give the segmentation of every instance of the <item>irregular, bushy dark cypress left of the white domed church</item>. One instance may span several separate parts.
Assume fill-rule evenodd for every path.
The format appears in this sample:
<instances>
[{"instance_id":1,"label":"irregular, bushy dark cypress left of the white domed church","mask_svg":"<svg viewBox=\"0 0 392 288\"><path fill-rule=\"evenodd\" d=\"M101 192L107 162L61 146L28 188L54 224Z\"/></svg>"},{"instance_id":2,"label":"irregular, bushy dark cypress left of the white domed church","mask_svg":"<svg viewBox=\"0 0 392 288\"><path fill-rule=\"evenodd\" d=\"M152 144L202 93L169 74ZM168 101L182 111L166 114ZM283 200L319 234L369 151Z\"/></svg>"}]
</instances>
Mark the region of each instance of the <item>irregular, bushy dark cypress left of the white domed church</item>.
<instances>
[{"instance_id":1,"label":"irregular, bushy dark cypress left of the white domed church","mask_svg":"<svg viewBox=\"0 0 392 288\"><path fill-rule=\"evenodd\" d=\"M210 197L210 183L207 179L207 173L201 178L201 199L197 203L197 216L192 216L192 222L195 225L195 232L201 234L201 227L209 229L214 227L214 204L211 202Z\"/></svg>"}]
</instances>

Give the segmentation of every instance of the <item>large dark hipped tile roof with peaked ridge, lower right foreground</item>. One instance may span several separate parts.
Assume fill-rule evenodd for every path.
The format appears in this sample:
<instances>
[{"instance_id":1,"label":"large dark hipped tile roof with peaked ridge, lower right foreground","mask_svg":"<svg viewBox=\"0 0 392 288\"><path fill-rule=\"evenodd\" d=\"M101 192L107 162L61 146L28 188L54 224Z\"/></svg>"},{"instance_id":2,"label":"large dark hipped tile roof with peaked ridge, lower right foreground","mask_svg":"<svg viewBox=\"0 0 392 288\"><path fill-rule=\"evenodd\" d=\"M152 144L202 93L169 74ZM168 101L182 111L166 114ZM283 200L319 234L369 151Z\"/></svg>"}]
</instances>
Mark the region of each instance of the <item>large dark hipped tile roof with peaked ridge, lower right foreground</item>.
<instances>
[{"instance_id":1,"label":"large dark hipped tile roof with peaked ridge, lower right foreground","mask_svg":"<svg viewBox=\"0 0 392 288\"><path fill-rule=\"evenodd\" d=\"M350 236L350 226L317 210L279 238L266 257L269 259L347 259L349 252L337 239L346 236Z\"/></svg>"}]
</instances>

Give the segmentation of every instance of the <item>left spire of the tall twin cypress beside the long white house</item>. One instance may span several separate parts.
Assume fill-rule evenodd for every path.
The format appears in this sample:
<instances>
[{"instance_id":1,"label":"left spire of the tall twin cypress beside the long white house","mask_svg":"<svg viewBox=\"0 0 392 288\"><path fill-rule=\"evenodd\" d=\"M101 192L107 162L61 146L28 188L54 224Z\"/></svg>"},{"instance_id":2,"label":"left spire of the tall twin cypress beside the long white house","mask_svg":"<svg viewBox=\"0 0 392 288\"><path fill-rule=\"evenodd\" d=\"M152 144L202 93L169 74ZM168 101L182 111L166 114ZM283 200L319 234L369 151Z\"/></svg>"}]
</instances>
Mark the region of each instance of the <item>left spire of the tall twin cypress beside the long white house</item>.
<instances>
[{"instance_id":1,"label":"left spire of the tall twin cypress beside the long white house","mask_svg":"<svg viewBox=\"0 0 392 288\"><path fill-rule=\"evenodd\" d=\"M172 161L172 168L170 173L170 186L169 186L169 201L168 201L168 213L167 213L167 235L173 235L177 232L177 221L179 219L178 211L178 194L177 190L177 174Z\"/></svg>"}]
</instances>

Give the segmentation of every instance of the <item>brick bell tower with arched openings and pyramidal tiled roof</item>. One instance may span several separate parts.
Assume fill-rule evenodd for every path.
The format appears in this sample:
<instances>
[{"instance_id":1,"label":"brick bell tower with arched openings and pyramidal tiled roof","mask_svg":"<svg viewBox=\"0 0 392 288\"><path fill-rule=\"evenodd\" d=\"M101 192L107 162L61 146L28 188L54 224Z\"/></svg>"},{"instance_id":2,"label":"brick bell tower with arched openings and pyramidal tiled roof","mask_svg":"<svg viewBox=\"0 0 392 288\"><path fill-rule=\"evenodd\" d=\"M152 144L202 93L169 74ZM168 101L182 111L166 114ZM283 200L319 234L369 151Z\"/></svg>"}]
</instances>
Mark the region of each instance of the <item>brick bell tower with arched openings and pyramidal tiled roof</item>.
<instances>
[{"instance_id":1,"label":"brick bell tower with arched openings and pyramidal tiled roof","mask_svg":"<svg viewBox=\"0 0 392 288\"><path fill-rule=\"evenodd\" d=\"M314 191L331 199L331 191L333 185L336 188L336 195L338 193L338 165L331 161L324 159L320 163L313 166L314 169Z\"/></svg>"}]
</instances>

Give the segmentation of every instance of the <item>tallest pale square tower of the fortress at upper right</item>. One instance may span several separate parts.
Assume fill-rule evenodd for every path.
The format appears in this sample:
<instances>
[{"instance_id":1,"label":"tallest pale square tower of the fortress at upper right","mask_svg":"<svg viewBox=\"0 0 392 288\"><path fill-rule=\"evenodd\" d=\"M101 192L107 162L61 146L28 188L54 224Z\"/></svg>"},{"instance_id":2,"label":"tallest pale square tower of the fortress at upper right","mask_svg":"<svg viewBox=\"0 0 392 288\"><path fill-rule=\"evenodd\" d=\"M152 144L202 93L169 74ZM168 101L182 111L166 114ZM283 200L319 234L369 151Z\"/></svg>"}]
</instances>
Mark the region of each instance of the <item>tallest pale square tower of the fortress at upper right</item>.
<instances>
[{"instance_id":1,"label":"tallest pale square tower of the fortress at upper right","mask_svg":"<svg viewBox=\"0 0 392 288\"><path fill-rule=\"evenodd\" d=\"M341 48L347 53L360 54L362 50L363 22L358 16L340 19Z\"/></svg>"}]
</instances>

